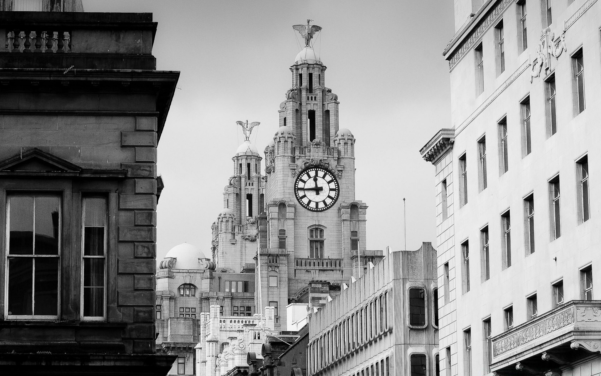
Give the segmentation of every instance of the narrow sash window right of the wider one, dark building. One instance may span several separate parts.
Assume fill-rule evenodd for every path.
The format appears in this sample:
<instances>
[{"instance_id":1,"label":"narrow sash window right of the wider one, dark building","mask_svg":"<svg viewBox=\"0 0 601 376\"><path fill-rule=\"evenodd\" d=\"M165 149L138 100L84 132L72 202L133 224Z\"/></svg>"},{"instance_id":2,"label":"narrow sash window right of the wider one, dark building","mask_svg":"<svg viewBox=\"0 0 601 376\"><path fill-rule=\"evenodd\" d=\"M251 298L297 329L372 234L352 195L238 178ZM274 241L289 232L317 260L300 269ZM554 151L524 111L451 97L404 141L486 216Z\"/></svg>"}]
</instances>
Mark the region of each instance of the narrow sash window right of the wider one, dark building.
<instances>
[{"instance_id":1,"label":"narrow sash window right of the wider one, dark building","mask_svg":"<svg viewBox=\"0 0 601 376\"><path fill-rule=\"evenodd\" d=\"M83 201L82 316L84 319L103 319L106 279L106 199L84 197Z\"/></svg>"}]
</instances>

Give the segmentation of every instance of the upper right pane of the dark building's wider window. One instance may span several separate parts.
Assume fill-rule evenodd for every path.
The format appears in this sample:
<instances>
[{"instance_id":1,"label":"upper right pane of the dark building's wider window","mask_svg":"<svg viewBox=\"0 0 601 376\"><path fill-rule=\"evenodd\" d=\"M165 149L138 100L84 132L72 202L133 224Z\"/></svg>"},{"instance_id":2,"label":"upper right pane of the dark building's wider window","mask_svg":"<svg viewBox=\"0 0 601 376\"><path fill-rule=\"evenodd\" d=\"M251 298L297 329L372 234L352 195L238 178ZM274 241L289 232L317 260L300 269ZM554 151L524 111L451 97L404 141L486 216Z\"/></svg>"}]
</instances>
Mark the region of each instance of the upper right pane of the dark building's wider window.
<instances>
[{"instance_id":1,"label":"upper right pane of the dark building's wider window","mask_svg":"<svg viewBox=\"0 0 601 376\"><path fill-rule=\"evenodd\" d=\"M35 254L58 254L58 197L35 197Z\"/></svg>"}]
</instances>

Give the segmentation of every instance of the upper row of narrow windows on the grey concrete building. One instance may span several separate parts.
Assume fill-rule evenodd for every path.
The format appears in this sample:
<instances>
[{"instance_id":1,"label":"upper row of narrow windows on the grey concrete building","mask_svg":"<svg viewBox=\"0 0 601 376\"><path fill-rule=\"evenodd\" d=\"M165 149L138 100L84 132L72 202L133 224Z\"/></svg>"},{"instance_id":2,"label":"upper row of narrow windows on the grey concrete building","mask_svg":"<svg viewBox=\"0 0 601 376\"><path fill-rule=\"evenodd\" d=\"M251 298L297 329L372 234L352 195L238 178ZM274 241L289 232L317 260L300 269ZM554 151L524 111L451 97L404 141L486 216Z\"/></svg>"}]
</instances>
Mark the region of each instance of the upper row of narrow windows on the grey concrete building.
<instances>
[{"instance_id":1,"label":"upper row of narrow windows on the grey concrete building","mask_svg":"<svg viewBox=\"0 0 601 376\"><path fill-rule=\"evenodd\" d=\"M309 344L311 374L337 362L350 351L388 330L388 291L350 313Z\"/></svg>"}]
</instances>

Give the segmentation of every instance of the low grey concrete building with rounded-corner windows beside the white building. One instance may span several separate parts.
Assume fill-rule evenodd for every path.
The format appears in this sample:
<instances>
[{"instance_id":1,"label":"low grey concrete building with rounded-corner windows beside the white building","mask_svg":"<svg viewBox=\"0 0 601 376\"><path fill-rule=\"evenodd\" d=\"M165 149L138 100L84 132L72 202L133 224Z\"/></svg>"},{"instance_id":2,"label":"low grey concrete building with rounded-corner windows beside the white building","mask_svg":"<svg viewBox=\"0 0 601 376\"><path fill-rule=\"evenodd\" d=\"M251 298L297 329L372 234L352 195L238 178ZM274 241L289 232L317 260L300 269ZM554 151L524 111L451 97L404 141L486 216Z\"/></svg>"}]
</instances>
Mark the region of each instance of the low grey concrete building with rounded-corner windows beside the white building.
<instances>
[{"instance_id":1,"label":"low grey concrete building with rounded-corner windows beside the white building","mask_svg":"<svg viewBox=\"0 0 601 376\"><path fill-rule=\"evenodd\" d=\"M427 242L390 252L311 314L307 374L438 375L435 265Z\"/></svg>"}]
</instances>

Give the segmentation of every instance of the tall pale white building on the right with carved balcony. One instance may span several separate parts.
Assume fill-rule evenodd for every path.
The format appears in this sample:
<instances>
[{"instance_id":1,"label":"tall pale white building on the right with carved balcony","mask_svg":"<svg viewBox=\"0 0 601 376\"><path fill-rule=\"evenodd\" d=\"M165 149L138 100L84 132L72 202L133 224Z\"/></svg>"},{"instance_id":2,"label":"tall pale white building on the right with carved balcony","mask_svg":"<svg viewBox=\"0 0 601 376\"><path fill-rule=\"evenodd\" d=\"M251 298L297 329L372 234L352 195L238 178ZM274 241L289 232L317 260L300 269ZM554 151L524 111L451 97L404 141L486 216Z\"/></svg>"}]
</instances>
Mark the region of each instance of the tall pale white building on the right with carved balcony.
<instances>
[{"instance_id":1,"label":"tall pale white building on the right with carved balcony","mask_svg":"<svg viewBox=\"0 0 601 376\"><path fill-rule=\"evenodd\" d=\"M454 4L452 128L421 149L435 165L441 368L599 374L601 4Z\"/></svg>"}]
</instances>

